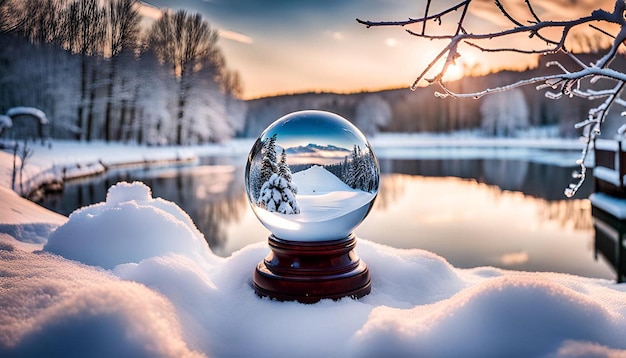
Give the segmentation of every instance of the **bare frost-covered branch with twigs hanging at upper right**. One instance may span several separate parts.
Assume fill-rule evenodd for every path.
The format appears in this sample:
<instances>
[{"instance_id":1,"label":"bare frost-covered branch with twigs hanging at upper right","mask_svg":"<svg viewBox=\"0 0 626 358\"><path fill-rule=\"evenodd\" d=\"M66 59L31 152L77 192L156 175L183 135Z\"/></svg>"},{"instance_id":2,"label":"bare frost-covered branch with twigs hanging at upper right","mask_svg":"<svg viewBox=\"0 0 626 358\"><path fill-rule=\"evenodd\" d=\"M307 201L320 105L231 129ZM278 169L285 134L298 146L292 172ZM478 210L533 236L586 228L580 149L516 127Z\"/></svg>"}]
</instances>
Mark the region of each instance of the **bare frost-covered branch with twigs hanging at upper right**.
<instances>
[{"instance_id":1,"label":"bare frost-covered branch with twigs hanging at upper right","mask_svg":"<svg viewBox=\"0 0 626 358\"><path fill-rule=\"evenodd\" d=\"M443 49L426 64L411 85L411 88L415 89L421 85L423 80L426 81L428 85L437 84L441 88L441 91L435 93L437 97L480 98L490 93L508 91L526 85L535 85L537 90L550 89L550 91L546 92L546 97L550 99L558 99L563 96L577 96L589 100L604 99L600 105L589 110L586 119L575 125L576 128L583 130L585 147L582 151L582 158L579 160L581 171L574 175L575 179L578 181L570 184L565 190L567 196L572 196L576 193L576 190L580 188L585 179L586 168L584 161L589 152L591 143L600 133L601 124L605 121L609 110L614 105L624 106L626 104L626 101L621 98L626 84L626 74L611 68L611 63L617 56L620 46L626 41L626 19L624 17L626 3L623 0L615 0L613 9L610 11L597 9L587 16L565 21L542 20L530 0L525 0L524 3L529 18L522 21L518 18L519 16L514 16L500 0L494 0L497 12L509 23L510 27L492 32L472 32L469 28L467 15L468 13L471 14L472 0L461 1L445 10L431 14L429 14L431 0L428 0L424 16L420 18L409 18L405 21L366 21L357 19L357 22L368 28L381 26L404 27L406 32L412 36L432 41L445 41ZM461 15L455 20L452 16L459 10L461 11ZM433 25L431 24L433 20L439 25L436 29L433 29ZM441 26L443 24L452 24L452 21L456 21L456 23L448 30L445 30L446 28ZM422 25L420 31L414 31L409 28L415 24ZM598 24L617 25L619 31L617 31L617 34L611 34L609 31L600 28ZM582 25L589 26L603 36L611 38L611 46L595 63L585 64L566 46L566 40L572 33L572 30ZM439 31L437 31L437 29ZM558 35L556 35L556 38L550 38L547 33L557 33ZM520 45L509 47L484 45L484 43L491 45L496 39L514 39L514 36L520 34L527 35L531 40L539 41L539 48L522 48ZM509 43L517 42L509 41ZM447 86L444 76L450 69L450 66L455 65L456 62L462 58L459 52L459 46L461 45L467 45L485 53L509 52L542 55L565 53L573 60L577 68L568 69L558 61L552 61L548 62L547 66L556 68L557 73L555 74L527 78L476 92L460 93L453 91ZM434 75L427 78L427 76L433 72ZM605 80L602 82L605 88L588 88L590 85L599 86L599 79ZM583 82L583 80L588 81ZM609 83L609 85L606 85L606 83Z\"/></svg>"}]
</instances>

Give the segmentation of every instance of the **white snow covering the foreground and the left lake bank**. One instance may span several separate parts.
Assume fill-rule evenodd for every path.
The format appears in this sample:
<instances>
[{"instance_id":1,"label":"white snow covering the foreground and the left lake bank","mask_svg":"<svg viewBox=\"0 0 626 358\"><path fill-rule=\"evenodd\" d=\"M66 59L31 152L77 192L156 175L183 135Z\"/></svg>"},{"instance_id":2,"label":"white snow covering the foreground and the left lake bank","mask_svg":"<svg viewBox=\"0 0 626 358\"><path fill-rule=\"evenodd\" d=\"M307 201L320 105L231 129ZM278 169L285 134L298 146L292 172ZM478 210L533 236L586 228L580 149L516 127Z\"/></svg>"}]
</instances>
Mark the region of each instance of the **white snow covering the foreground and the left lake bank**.
<instances>
[{"instance_id":1,"label":"white snow covering the foreground and the left lake bank","mask_svg":"<svg viewBox=\"0 0 626 358\"><path fill-rule=\"evenodd\" d=\"M60 147L55 163L171 155ZM231 149L243 154L237 145L185 151ZM28 178L50 167L42 152ZM0 153L0 356L626 356L623 284L458 269L361 237L371 294L276 302L251 285L266 244L219 258L182 210L139 183L64 218L7 189L11 166Z\"/></svg>"}]
</instances>

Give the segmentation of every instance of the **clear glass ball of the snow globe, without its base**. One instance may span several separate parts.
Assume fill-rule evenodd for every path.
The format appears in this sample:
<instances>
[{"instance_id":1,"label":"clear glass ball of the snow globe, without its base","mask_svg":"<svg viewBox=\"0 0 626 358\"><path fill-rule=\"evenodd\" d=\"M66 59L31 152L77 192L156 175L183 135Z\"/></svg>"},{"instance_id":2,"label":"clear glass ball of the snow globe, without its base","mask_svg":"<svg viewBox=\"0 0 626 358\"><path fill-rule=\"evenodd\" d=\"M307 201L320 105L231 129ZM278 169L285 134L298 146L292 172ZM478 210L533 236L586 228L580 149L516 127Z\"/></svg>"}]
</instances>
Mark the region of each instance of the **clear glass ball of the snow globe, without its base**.
<instances>
[{"instance_id":1,"label":"clear glass ball of the snow globe, without its base","mask_svg":"<svg viewBox=\"0 0 626 358\"><path fill-rule=\"evenodd\" d=\"M275 237L346 238L378 193L378 160L365 136L341 116L290 113L256 140L246 165L248 200Z\"/></svg>"}]
</instances>

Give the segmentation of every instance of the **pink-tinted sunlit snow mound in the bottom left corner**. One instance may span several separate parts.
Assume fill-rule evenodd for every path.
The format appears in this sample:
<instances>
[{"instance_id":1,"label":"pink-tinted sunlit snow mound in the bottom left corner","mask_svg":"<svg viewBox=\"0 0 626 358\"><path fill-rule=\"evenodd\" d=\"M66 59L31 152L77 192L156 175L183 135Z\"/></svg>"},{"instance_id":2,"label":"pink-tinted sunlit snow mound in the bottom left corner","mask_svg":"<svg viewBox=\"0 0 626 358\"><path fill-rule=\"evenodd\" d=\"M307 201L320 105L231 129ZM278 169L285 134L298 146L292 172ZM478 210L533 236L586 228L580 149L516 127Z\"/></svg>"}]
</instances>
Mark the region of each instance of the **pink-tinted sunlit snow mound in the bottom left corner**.
<instances>
[{"instance_id":1,"label":"pink-tinted sunlit snow mound in the bottom left corner","mask_svg":"<svg viewBox=\"0 0 626 358\"><path fill-rule=\"evenodd\" d=\"M0 249L0 356L191 357L170 301L94 267Z\"/></svg>"}]
</instances>

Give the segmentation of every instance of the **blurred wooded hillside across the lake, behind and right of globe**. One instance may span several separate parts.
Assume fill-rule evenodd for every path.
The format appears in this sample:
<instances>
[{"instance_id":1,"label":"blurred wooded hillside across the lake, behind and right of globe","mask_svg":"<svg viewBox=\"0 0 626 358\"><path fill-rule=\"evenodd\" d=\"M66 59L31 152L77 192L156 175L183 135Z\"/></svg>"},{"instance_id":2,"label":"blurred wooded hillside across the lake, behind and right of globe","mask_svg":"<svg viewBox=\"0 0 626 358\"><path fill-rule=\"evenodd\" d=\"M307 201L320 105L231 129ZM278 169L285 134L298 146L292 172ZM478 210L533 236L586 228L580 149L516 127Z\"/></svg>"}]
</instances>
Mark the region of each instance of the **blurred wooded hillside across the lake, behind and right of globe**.
<instances>
[{"instance_id":1,"label":"blurred wooded hillside across the lake, behind and right of globe","mask_svg":"<svg viewBox=\"0 0 626 358\"><path fill-rule=\"evenodd\" d=\"M597 61L601 52L578 56L583 63L589 63ZM572 70L579 68L567 55L556 58L539 57L538 65L526 71L500 71L480 77L470 76L449 85L458 92L472 92L556 72L554 66L546 66L548 60L558 60ZM626 59L623 56L618 56L615 61L616 68L626 70ZM597 105L596 102L578 97L552 100L546 98L546 90L537 91L535 86L504 92L497 100L491 98L493 95L478 100L441 99L434 96L436 90L434 87L417 88L415 91L399 88L374 93L303 93L259 98L248 101L245 133L254 137L269 123L286 113L301 109L319 109L338 113L370 134L373 128L379 132L432 133L478 129L486 136L512 136L516 131L528 127L552 126L558 128L560 136L576 137L579 133L574 124L587 118L589 108ZM390 109L388 115L385 115L386 107ZM522 112L527 115L520 116ZM619 112L615 111L611 116L619 117ZM372 113L379 114L373 116ZM512 123L514 121L517 123ZM610 119L604 131L614 133L610 128L613 123L621 123L621 120ZM617 126L619 125L621 124Z\"/></svg>"}]
</instances>

